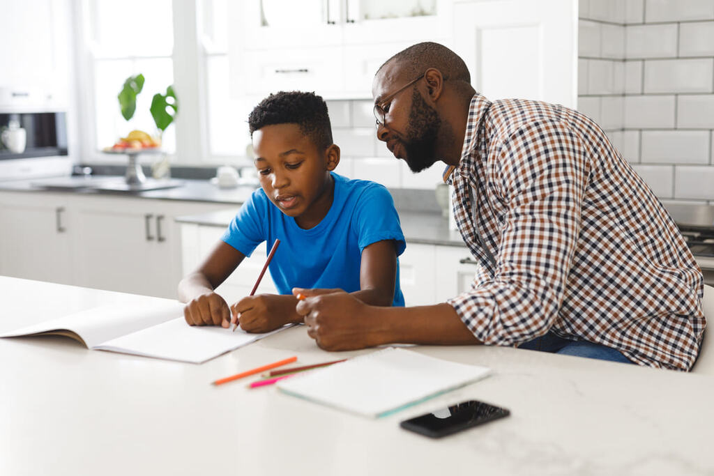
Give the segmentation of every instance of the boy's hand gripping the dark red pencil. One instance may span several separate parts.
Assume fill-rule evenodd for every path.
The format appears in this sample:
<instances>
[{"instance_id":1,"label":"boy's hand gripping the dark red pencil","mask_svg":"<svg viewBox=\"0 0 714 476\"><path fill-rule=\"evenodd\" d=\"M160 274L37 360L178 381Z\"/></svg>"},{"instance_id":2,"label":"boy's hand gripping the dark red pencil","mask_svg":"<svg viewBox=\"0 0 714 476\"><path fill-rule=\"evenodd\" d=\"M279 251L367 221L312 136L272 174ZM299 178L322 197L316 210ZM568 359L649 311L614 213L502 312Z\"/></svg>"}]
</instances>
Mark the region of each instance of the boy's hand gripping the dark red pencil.
<instances>
[{"instance_id":1,"label":"boy's hand gripping the dark red pencil","mask_svg":"<svg viewBox=\"0 0 714 476\"><path fill-rule=\"evenodd\" d=\"M246 296L231 305L231 324L240 324L248 333L266 333L287 323L302 322L295 312L296 303L291 295Z\"/></svg>"}]
</instances>

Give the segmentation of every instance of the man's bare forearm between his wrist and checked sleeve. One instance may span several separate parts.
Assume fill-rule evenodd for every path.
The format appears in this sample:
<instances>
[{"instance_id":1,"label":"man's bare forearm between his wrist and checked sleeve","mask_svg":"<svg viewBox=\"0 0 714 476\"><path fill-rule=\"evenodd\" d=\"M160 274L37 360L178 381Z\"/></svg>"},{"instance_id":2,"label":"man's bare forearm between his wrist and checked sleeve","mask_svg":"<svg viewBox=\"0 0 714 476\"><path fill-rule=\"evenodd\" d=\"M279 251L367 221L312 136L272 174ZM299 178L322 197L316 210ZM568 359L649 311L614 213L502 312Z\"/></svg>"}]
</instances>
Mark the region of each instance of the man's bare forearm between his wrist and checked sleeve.
<instances>
[{"instance_id":1,"label":"man's bare forearm between his wrist and checked sleeve","mask_svg":"<svg viewBox=\"0 0 714 476\"><path fill-rule=\"evenodd\" d=\"M377 343L473 345L480 344L451 305L414 306L410 308L370 308L375 314Z\"/></svg>"}]
</instances>

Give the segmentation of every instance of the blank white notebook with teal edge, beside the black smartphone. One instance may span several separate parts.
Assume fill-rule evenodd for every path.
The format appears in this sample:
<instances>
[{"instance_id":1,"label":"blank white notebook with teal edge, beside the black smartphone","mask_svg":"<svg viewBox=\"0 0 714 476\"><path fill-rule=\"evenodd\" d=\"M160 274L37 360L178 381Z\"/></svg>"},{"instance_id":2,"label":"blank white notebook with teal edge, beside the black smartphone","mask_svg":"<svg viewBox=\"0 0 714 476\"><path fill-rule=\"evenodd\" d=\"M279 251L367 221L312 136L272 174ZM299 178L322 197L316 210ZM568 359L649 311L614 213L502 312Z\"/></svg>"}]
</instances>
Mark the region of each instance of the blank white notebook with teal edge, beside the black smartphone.
<instances>
[{"instance_id":1,"label":"blank white notebook with teal edge, beside the black smartphone","mask_svg":"<svg viewBox=\"0 0 714 476\"><path fill-rule=\"evenodd\" d=\"M285 393L370 417L382 417L486 377L488 368L386 348L281 380Z\"/></svg>"}]
</instances>

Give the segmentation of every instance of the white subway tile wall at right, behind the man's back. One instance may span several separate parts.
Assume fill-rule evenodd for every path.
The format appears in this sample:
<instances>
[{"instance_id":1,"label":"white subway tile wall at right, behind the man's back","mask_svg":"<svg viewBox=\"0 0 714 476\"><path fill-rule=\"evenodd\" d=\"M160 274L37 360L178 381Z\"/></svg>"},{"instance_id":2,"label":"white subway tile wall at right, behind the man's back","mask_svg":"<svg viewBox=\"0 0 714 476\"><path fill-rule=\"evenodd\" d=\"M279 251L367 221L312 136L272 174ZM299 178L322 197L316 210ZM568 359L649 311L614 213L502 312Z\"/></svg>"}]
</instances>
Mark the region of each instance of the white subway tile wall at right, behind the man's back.
<instances>
[{"instance_id":1,"label":"white subway tile wall at right, behind the man's back","mask_svg":"<svg viewBox=\"0 0 714 476\"><path fill-rule=\"evenodd\" d=\"M578 109L659 198L714 203L714 0L580 0L579 16Z\"/></svg>"}]
</instances>

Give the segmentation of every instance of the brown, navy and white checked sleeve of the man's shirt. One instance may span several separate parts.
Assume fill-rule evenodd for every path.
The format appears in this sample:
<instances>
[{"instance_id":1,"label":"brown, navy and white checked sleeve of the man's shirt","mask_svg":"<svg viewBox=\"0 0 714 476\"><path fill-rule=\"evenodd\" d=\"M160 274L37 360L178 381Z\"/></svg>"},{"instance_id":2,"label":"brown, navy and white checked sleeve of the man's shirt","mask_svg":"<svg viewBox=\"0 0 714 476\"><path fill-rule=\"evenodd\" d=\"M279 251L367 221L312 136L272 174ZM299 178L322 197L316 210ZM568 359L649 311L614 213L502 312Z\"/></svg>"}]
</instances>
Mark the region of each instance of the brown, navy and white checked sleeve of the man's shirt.
<instances>
[{"instance_id":1,"label":"brown, navy and white checked sleeve of the man's shirt","mask_svg":"<svg viewBox=\"0 0 714 476\"><path fill-rule=\"evenodd\" d=\"M590 162L576 133L540 121L503 142L495 170L508 206L495 273L448 303L483 343L513 345L545 334L558 316Z\"/></svg>"}]
</instances>

